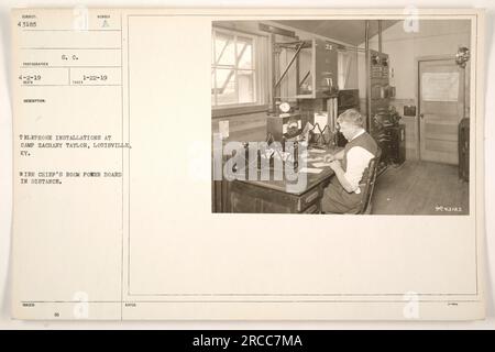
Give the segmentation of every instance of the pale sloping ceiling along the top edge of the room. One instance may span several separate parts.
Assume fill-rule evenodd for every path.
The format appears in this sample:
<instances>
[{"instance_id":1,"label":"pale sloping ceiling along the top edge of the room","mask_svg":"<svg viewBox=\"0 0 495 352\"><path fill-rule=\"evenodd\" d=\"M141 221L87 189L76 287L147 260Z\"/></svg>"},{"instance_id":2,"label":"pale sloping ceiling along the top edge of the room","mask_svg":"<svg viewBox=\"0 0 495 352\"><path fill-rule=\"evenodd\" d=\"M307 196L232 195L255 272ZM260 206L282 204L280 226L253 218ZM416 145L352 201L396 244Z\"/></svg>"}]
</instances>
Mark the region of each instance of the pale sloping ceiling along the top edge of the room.
<instances>
[{"instance_id":1,"label":"pale sloping ceiling along the top edge of the room","mask_svg":"<svg viewBox=\"0 0 495 352\"><path fill-rule=\"evenodd\" d=\"M302 20L273 21L346 44L364 43L364 20ZM395 24L397 20L382 20L382 31ZM370 37L378 33L378 21L370 21Z\"/></svg>"}]
</instances>

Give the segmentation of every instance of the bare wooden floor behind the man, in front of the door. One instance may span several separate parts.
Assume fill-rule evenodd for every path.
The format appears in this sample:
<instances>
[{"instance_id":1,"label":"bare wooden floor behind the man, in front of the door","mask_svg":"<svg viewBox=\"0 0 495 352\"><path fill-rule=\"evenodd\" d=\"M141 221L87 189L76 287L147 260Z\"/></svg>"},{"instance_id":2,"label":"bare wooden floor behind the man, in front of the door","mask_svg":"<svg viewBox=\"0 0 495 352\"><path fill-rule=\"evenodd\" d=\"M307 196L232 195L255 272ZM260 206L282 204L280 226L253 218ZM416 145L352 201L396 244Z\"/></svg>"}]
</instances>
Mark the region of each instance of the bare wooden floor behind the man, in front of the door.
<instances>
[{"instance_id":1,"label":"bare wooden floor behind the man, in front of the door","mask_svg":"<svg viewBox=\"0 0 495 352\"><path fill-rule=\"evenodd\" d=\"M458 166L407 161L378 176L374 215L468 215L469 183Z\"/></svg>"}]
</instances>

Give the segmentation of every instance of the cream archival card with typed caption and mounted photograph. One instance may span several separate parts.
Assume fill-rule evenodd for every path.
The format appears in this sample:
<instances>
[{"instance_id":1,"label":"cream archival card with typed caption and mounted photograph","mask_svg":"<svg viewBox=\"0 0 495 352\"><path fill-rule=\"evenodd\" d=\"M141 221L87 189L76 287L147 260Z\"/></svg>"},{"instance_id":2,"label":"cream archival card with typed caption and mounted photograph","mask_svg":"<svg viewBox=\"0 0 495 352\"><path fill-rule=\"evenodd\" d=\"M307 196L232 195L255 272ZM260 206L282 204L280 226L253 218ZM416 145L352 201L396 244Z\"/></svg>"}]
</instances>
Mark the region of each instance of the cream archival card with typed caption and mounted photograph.
<instances>
[{"instance_id":1,"label":"cream archival card with typed caption and mounted photograph","mask_svg":"<svg viewBox=\"0 0 495 352\"><path fill-rule=\"evenodd\" d=\"M484 11L11 29L13 318L484 318Z\"/></svg>"}]
</instances>

